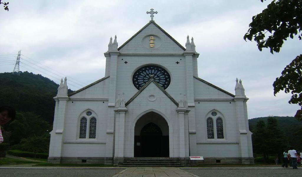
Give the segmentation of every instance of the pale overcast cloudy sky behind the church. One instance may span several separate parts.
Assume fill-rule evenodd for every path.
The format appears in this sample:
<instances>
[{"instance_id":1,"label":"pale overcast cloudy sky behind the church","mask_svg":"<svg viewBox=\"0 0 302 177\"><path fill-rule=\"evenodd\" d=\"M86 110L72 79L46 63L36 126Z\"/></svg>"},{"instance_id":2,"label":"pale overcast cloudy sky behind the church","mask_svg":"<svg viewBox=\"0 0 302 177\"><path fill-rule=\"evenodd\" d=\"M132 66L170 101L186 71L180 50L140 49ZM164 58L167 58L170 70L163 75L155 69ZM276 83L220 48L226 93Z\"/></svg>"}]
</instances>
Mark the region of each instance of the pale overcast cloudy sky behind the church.
<instances>
[{"instance_id":1,"label":"pale overcast cloudy sky behind the church","mask_svg":"<svg viewBox=\"0 0 302 177\"><path fill-rule=\"evenodd\" d=\"M242 79L249 119L294 116L299 109L288 104L291 94L274 96L272 87L284 67L301 54L297 37L274 55L243 40L252 16L271 0L4 2L9 2L9 11L0 9L0 72L13 71L10 54L22 50L21 71L42 74L56 83L67 75L69 88L78 90L104 77L109 38L116 34L122 45L149 22L146 11L154 8L156 23L180 44L185 46L187 35L194 37L200 78L233 94L236 77Z\"/></svg>"}]
</instances>

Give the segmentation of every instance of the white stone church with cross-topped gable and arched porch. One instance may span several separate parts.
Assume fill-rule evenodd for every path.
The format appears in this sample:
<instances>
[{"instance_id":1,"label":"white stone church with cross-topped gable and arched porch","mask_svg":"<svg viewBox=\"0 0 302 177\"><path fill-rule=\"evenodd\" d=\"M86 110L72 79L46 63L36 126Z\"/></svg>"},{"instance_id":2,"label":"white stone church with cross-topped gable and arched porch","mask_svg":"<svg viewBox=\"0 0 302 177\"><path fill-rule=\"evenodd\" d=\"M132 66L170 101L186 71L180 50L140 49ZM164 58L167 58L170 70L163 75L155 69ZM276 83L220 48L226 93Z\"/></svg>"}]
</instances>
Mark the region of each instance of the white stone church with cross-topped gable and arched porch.
<instances>
[{"instance_id":1,"label":"white stone church with cross-topped gable and arched porch","mask_svg":"<svg viewBox=\"0 0 302 177\"><path fill-rule=\"evenodd\" d=\"M123 45L110 38L105 77L71 94L61 80L48 162L165 157L186 165L203 156L205 163L253 163L241 80L234 95L199 78L193 38L183 47L149 13Z\"/></svg>"}]
</instances>

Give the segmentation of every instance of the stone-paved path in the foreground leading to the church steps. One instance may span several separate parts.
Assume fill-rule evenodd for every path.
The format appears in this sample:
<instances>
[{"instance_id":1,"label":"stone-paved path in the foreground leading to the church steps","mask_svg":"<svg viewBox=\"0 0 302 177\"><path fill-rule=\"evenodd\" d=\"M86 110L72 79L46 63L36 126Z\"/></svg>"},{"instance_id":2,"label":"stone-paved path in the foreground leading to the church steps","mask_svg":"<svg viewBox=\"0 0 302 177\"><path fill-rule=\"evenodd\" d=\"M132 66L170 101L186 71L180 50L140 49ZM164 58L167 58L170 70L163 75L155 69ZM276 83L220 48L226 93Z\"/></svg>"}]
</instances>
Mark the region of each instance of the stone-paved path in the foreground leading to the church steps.
<instances>
[{"instance_id":1,"label":"stone-paved path in the foreground leading to the church steps","mask_svg":"<svg viewBox=\"0 0 302 177\"><path fill-rule=\"evenodd\" d=\"M175 167L130 167L113 177L198 177Z\"/></svg>"}]
</instances>

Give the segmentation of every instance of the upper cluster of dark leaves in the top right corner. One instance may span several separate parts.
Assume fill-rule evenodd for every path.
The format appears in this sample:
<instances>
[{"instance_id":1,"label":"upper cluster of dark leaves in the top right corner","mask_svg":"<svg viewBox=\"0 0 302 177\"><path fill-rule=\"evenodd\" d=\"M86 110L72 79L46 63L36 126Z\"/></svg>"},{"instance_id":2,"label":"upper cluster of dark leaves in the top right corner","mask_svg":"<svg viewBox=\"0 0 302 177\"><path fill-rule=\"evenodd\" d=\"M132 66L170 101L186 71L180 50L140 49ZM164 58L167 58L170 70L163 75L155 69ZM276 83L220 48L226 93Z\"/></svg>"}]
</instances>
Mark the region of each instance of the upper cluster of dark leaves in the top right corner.
<instances>
[{"instance_id":1,"label":"upper cluster of dark leaves in the top right corner","mask_svg":"<svg viewBox=\"0 0 302 177\"><path fill-rule=\"evenodd\" d=\"M262 13L252 17L249 27L244 40L254 39L260 51L270 48L271 53L279 52L288 37L298 35L302 39L302 0L272 1Z\"/></svg>"}]
</instances>

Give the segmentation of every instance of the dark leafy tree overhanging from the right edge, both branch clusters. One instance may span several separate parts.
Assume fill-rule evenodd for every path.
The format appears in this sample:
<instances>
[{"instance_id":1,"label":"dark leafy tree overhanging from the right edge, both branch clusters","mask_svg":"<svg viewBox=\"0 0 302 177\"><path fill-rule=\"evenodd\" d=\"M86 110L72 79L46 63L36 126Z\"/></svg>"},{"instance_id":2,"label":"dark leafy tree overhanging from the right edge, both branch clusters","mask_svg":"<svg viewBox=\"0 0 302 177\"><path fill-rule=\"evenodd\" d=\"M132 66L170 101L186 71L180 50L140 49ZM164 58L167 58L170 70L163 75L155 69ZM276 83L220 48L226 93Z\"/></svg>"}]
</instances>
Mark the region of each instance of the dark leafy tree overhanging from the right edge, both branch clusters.
<instances>
[{"instance_id":1,"label":"dark leafy tree overhanging from the right edge, both branch clusters","mask_svg":"<svg viewBox=\"0 0 302 177\"><path fill-rule=\"evenodd\" d=\"M263 0L260 0L263 2ZM252 17L249 30L244 40L254 40L258 49L269 48L270 52L279 52L284 41L289 37L302 39L302 0L274 0L262 13ZM274 95L280 90L291 93L289 103L299 104L301 109L296 112L295 118L302 119L302 76L301 55L297 56L276 78L273 84Z\"/></svg>"}]
</instances>

